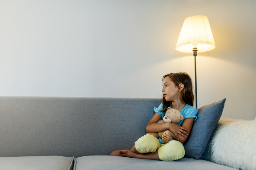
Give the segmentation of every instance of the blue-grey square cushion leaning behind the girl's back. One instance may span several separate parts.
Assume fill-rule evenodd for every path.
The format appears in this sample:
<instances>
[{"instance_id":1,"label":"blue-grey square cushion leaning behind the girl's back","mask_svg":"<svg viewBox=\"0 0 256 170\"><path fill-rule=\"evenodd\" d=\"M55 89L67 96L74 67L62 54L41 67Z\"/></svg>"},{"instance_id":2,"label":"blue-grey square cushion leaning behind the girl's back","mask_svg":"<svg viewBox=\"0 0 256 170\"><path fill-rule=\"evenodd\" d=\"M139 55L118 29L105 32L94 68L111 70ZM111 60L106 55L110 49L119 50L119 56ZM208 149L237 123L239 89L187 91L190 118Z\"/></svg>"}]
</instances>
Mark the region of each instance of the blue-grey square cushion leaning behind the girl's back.
<instances>
[{"instance_id":1,"label":"blue-grey square cushion leaning behind the girl's back","mask_svg":"<svg viewBox=\"0 0 256 170\"><path fill-rule=\"evenodd\" d=\"M191 133L184 143L185 157L200 159L211 135L220 120L226 99L200 107L197 120L194 121Z\"/></svg>"}]
</instances>

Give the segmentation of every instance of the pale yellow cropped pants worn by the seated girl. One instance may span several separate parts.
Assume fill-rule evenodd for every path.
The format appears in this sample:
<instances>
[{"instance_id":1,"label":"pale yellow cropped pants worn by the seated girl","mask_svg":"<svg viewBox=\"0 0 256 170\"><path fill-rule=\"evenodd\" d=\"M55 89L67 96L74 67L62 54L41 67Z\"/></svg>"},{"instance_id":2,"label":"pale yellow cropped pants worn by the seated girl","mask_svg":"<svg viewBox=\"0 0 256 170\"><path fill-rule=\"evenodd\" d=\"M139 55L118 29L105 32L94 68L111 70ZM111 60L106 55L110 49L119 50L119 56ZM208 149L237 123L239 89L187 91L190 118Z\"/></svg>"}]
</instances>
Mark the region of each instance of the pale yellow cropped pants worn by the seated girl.
<instances>
[{"instance_id":1,"label":"pale yellow cropped pants worn by the seated girl","mask_svg":"<svg viewBox=\"0 0 256 170\"><path fill-rule=\"evenodd\" d=\"M162 144L150 134L146 134L135 142L135 148L140 153L156 152L163 161L173 161L184 157L184 146L177 140L171 140L167 144Z\"/></svg>"}]
</instances>

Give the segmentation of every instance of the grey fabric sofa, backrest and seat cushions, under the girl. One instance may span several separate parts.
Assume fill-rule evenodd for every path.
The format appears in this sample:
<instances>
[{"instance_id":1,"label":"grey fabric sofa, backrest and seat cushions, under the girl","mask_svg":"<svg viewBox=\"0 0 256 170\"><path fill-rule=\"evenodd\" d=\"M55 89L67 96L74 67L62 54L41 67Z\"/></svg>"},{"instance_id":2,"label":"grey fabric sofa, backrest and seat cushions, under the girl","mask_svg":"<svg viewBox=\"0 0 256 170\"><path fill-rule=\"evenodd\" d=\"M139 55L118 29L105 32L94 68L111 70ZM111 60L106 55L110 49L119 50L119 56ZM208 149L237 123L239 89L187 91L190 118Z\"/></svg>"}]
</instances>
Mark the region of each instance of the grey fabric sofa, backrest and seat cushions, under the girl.
<instances>
[{"instance_id":1,"label":"grey fabric sofa, backrest and seat cushions, under the girl","mask_svg":"<svg viewBox=\"0 0 256 170\"><path fill-rule=\"evenodd\" d=\"M153 107L160 103L161 99L0 96L0 169L233 169L190 156L173 162L109 156L113 150L130 149L146 133ZM190 138L196 136L192 132Z\"/></svg>"}]
</instances>

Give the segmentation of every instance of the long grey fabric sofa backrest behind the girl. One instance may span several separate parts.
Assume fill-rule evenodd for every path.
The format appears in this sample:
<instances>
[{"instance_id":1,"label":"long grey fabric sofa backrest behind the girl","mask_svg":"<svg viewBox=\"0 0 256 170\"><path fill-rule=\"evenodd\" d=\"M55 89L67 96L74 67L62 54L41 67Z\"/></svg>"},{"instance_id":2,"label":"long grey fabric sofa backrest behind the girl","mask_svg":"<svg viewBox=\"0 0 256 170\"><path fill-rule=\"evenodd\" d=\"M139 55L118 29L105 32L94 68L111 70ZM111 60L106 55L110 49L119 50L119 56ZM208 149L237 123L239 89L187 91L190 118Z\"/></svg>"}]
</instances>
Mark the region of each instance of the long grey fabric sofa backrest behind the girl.
<instances>
[{"instance_id":1,"label":"long grey fabric sofa backrest behind the girl","mask_svg":"<svg viewBox=\"0 0 256 170\"><path fill-rule=\"evenodd\" d=\"M0 96L0 157L131 149L161 99Z\"/></svg>"}]
</instances>

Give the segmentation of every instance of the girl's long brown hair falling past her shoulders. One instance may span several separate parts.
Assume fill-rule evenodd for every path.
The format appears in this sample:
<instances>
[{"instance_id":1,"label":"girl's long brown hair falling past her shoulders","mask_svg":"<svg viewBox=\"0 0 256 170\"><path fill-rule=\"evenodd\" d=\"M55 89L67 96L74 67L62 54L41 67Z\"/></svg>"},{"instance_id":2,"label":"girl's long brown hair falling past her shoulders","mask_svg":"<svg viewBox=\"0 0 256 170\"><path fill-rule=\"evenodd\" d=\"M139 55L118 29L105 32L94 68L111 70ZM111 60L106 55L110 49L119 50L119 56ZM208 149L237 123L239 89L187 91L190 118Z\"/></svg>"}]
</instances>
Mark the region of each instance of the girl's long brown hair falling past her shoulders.
<instances>
[{"instance_id":1,"label":"girl's long brown hair falling past her shoulders","mask_svg":"<svg viewBox=\"0 0 256 170\"><path fill-rule=\"evenodd\" d=\"M179 87L179 84L184 84L184 88L180 91L180 100L185 104L190 106L194 105L194 93L193 93L193 84L190 75L187 73L170 73L163 76L163 80L165 77L169 77L172 82L174 82L176 87ZM171 101L166 101L163 97L163 110L161 112L166 112L167 108L170 107Z\"/></svg>"}]
</instances>

